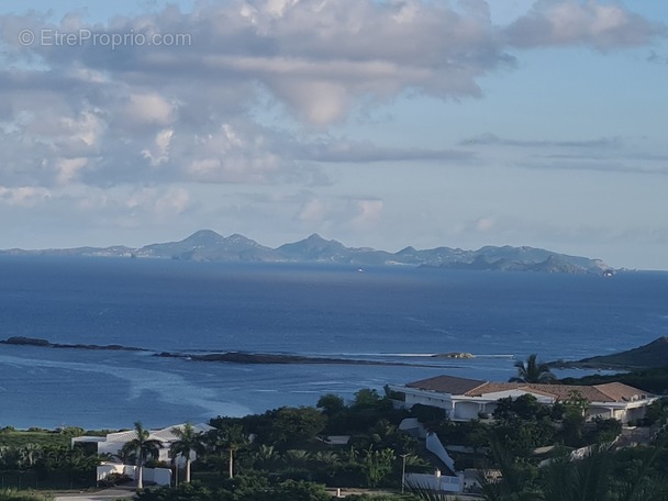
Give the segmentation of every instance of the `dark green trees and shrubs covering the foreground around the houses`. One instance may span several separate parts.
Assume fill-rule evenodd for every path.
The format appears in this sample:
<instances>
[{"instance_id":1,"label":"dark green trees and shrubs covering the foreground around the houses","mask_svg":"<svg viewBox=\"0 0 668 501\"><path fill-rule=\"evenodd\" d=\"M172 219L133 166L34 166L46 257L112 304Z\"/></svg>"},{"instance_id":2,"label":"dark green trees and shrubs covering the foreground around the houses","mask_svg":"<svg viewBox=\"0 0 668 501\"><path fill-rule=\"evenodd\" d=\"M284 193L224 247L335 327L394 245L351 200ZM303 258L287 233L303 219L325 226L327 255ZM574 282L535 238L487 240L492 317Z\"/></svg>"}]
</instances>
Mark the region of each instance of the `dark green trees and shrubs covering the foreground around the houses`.
<instances>
[{"instance_id":1,"label":"dark green trees and shrubs covering the foreground around the houses","mask_svg":"<svg viewBox=\"0 0 668 501\"><path fill-rule=\"evenodd\" d=\"M541 378L542 364L530 357L524 376ZM392 396L394 397L394 396ZM668 398L655 402L637 424L647 426L645 444L611 447L621 432L615 420L586 422L587 401L577 391L555 405L533 396L501 399L491 416L468 422L449 421L443 410L415 405L394 409L389 393L361 389L346 402L322 396L315 408L279 408L244 417L219 416L208 433L190 425L175 432L171 468L182 461L182 481L171 488L142 489L142 501L325 501L335 488L381 488L392 493L357 493L350 500L454 500L421 486L400 494L402 470L444 472L445 465L426 452L424 441L399 431L405 417L416 417L453 452L457 470L480 474L477 493L486 500L517 501L639 501L668 499ZM91 445L70 448L77 428L57 432L0 432L0 476L4 488L54 489L94 487L96 466L103 459ZM159 443L135 423L136 438L121 452L124 461L154 465ZM344 441L330 441L333 435ZM574 459L574 449L592 446ZM93 446L94 447L94 446ZM169 467L169 465L157 465ZM127 479L110 478L107 485ZM191 481L192 480L192 481ZM326 490L325 486L329 488ZM40 501L29 491L0 491L0 501Z\"/></svg>"}]
</instances>

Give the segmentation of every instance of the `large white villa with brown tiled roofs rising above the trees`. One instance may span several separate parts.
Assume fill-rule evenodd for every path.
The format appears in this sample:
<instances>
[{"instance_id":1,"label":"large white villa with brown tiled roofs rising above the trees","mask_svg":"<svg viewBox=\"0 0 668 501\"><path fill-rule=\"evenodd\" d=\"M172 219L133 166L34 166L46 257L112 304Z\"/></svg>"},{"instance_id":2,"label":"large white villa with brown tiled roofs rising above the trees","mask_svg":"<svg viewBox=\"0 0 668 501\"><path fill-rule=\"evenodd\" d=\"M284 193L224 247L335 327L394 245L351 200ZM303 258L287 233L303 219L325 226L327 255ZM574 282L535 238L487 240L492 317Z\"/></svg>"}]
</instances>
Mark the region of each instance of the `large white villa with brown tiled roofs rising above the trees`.
<instances>
[{"instance_id":1,"label":"large white villa with brown tiled roofs rising above the trees","mask_svg":"<svg viewBox=\"0 0 668 501\"><path fill-rule=\"evenodd\" d=\"M532 394L541 403L554 404L570 400L574 394L589 403L587 417L614 417L622 423L645 415L646 408L658 397L621 382L594 386L538 385L530 382L490 382L480 379L436 376L391 386L405 396L405 407L423 405L444 409L453 421L469 421L494 412L499 399Z\"/></svg>"}]
</instances>

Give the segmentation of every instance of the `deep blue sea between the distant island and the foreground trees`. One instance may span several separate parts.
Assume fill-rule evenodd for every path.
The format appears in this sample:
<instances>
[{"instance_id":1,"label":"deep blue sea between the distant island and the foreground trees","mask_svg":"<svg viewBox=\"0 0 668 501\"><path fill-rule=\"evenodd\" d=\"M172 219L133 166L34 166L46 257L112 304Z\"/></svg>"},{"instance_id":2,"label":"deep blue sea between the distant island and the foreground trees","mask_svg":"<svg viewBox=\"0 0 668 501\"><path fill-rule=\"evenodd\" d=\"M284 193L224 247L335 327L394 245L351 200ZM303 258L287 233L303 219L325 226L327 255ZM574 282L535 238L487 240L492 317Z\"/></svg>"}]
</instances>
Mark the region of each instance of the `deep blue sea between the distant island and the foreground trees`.
<instances>
[{"instance_id":1,"label":"deep blue sea between the distant island and the foreground trees","mask_svg":"<svg viewBox=\"0 0 668 501\"><path fill-rule=\"evenodd\" d=\"M635 347L668 335L668 274L3 256L0 338L18 335L409 364L236 365L0 345L0 426L157 427L444 372L506 380L531 353L577 359ZM448 352L476 358L426 356Z\"/></svg>"}]
</instances>

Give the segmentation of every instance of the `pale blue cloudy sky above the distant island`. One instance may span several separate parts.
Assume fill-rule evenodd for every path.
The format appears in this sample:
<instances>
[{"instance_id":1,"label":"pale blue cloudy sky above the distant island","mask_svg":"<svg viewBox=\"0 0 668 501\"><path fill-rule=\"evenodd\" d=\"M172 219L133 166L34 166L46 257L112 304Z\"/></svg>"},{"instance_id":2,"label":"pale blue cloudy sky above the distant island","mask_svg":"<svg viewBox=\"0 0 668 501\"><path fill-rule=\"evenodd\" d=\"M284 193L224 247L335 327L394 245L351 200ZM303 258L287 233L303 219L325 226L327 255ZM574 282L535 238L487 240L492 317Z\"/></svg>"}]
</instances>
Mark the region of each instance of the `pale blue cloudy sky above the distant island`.
<instances>
[{"instance_id":1,"label":"pale blue cloudy sky above the distant island","mask_svg":"<svg viewBox=\"0 0 668 501\"><path fill-rule=\"evenodd\" d=\"M665 0L0 3L0 248L200 229L668 270Z\"/></svg>"}]
</instances>

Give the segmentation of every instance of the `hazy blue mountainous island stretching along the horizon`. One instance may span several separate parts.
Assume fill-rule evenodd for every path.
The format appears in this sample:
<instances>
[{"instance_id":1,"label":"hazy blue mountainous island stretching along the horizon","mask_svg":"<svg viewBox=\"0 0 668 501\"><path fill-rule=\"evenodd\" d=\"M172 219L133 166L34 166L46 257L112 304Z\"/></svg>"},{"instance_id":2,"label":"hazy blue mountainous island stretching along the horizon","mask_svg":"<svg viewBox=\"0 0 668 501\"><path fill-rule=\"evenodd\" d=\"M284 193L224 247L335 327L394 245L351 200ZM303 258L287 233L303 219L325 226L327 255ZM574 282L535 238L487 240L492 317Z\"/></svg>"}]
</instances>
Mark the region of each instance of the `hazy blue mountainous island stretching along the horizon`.
<instances>
[{"instance_id":1,"label":"hazy blue mountainous island stretching along the horizon","mask_svg":"<svg viewBox=\"0 0 668 501\"><path fill-rule=\"evenodd\" d=\"M593 274L612 276L614 269L601 259L569 256L534 247L486 246L478 250L436 247L417 250L405 247L398 253L369 247L346 247L341 242L318 234L277 248L266 247L240 234L222 236L200 230L179 242L151 244L141 248L126 246L76 247L0 250L3 255L98 256L163 258L197 261L249 263L332 263L356 267L371 265L412 265L447 269L497 271L541 271L553 274Z\"/></svg>"}]
</instances>

